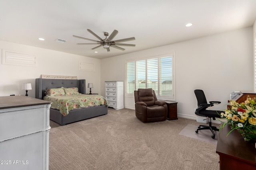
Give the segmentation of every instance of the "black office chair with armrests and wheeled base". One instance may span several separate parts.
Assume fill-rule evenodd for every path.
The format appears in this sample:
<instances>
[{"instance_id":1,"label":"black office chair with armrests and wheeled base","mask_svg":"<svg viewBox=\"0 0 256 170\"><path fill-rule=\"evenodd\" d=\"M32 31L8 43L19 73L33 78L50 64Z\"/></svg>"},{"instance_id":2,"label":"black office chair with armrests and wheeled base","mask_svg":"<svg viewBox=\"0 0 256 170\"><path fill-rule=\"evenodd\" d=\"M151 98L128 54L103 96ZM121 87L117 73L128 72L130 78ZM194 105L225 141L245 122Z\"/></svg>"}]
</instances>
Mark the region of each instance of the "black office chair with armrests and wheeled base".
<instances>
[{"instance_id":1,"label":"black office chair with armrests and wheeled base","mask_svg":"<svg viewBox=\"0 0 256 170\"><path fill-rule=\"evenodd\" d=\"M209 126L199 125L198 129L196 130L196 133L198 133L198 131L200 131L200 130L209 129L213 134L212 139L214 139L215 138L214 131L219 131L219 129L216 126L212 126L212 119L216 120L215 119L216 117L220 118L220 113L225 112L225 111L206 110L206 108L212 107L212 106L214 106L214 104L220 104L220 102L211 101L211 102L209 102L210 104L208 104L203 90L194 90L194 92L196 95L197 105L198 105L198 107L196 108L196 111L195 111L196 115L210 118Z\"/></svg>"}]
</instances>

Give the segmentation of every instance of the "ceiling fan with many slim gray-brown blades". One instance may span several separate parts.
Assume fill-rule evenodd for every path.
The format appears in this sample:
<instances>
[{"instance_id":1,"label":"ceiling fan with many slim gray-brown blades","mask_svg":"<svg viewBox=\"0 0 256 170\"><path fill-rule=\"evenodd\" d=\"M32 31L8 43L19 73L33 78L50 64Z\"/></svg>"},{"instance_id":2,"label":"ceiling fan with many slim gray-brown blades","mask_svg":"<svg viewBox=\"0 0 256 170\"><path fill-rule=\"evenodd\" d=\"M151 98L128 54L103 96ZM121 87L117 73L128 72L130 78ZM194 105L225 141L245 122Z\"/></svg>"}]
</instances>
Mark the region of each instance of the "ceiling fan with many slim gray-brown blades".
<instances>
[{"instance_id":1,"label":"ceiling fan with many slim gray-brown blades","mask_svg":"<svg viewBox=\"0 0 256 170\"><path fill-rule=\"evenodd\" d=\"M78 37L76 35L73 35L73 37L76 37L76 38L86 39L86 40L94 41L95 42L95 43L77 43L77 45L94 45L95 44L95 45L98 45L98 46L92 48L92 50L97 49L97 48L103 46L103 48L107 49L108 52L110 51L109 47L114 47L114 48L122 50L122 51L124 51L125 49L121 48L121 47L118 47L118 46L135 47L135 44L123 44L122 43L124 41L135 40L135 37L118 39L118 40L112 40L112 39L114 39L114 37L118 33L118 31L116 29L111 33L111 35L108 38L107 38L108 33L104 32L104 35L106 36L105 39L100 38L98 35L96 35L96 33L92 32L92 30L90 30L90 29L87 29L87 31L90 32L92 35L94 35L96 38L98 38L100 41L93 40L93 39L88 39L88 38L84 38L84 37ZM116 46L116 45L118 45L118 46Z\"/></svg>"}]
</instances>

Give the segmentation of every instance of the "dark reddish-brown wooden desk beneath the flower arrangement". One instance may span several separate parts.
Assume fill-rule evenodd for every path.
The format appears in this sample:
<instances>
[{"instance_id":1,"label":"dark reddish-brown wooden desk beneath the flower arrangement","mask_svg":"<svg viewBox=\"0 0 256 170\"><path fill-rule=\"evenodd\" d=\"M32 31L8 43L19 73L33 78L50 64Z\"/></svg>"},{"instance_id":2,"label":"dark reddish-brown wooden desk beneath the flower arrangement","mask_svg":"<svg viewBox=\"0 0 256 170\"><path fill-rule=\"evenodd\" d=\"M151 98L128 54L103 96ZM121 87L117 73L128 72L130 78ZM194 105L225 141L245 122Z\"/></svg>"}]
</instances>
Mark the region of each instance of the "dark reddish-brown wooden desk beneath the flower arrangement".
<instances>
[{"instance_id":1,"label":"dark reddish-brown wooden desk beneath the flower arrangement","mask_svg":"<svg viewBox=\"0 0 256 170\"><path fill-rule=\"evenodd\" d=\"M216 153L220 155L220 170L256 169L255 143L244 141L237 130L226 137L229 131L229 126L220 128L216 148Z\"/></svg>"}]
</instances>

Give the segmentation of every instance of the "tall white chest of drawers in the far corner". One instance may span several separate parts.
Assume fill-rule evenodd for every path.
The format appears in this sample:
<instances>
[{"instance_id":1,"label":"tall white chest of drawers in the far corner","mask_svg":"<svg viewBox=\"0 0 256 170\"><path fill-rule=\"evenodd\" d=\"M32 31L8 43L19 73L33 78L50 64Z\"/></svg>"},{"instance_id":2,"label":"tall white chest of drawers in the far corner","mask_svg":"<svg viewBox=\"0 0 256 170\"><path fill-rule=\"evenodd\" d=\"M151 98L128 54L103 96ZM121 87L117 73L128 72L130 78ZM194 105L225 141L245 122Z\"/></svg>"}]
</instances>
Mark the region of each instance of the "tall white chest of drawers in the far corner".
<instances>
[{"instance_id":1,"label":"tall white chest of drawers in the far corner","mask_svg":"<svg viewBox=\"0 0 256 170\"><path fill-rule=\"evenodd\" d=\"M114 109L124 108L124 82L123 81L106 81L106 99L109 107Z\"/></svg>"}]
</instances>

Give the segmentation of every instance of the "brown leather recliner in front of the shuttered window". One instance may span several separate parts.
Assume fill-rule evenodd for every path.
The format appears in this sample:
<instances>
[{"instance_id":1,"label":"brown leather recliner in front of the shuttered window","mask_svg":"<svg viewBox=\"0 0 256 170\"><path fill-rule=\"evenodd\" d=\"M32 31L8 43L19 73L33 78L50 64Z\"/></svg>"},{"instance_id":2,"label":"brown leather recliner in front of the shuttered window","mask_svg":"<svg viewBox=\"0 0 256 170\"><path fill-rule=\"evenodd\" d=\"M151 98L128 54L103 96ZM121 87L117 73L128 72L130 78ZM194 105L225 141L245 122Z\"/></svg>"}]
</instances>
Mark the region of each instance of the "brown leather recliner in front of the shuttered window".
<instances>
[{"instance_id":1,"label":"brown leather recliner in front of the shuttered window","mask_svg":"<svg viewBox=\"0 0 256 170\"><path fill-rule=\"evenodd\" d=\"M167 105L158 101L152 88L139 88L134 91L136 117L142 122L164 121L167 117Z\"/></svg>"}]
</instances>

